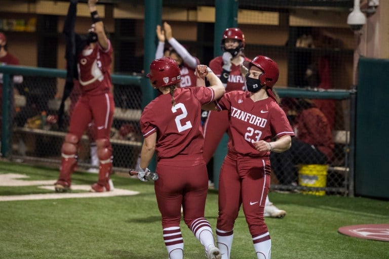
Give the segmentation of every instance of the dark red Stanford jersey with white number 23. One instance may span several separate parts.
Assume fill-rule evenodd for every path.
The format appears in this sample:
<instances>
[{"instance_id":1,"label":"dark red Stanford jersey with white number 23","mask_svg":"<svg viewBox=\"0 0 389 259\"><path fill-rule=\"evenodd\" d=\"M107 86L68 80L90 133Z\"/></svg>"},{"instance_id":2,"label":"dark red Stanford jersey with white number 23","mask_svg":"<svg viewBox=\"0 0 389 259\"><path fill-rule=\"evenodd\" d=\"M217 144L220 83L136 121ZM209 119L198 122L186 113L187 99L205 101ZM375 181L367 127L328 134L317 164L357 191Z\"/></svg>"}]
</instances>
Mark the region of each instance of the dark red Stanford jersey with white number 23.
<instances>
[{"instance_id":1,"label":"dark red Stanford jersey with white number 23","mask_svg":"<svg viewBox=\"0 0 389 259\"><path fill-rule=\"evenodd\" d=\"M274 137L294 136L285 112L272 98L254 102L249 92L232 91L217 102L218 110L228 110L228 151L250 157L266 157L253 142L270 142ZM211 130L211 129L210 129Z\"/></svg>"}]
</instances>

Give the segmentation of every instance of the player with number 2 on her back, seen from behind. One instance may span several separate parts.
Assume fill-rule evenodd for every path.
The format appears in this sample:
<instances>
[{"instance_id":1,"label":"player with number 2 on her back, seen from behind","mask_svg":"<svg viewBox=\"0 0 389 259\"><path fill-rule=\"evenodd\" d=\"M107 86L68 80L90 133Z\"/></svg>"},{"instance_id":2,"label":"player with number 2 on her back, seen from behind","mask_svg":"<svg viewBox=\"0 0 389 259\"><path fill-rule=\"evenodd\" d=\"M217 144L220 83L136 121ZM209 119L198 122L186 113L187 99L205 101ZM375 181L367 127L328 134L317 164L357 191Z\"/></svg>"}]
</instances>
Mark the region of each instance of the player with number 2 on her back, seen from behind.
<instances>
[{"instance_id":1,"label":"player with number 2 on her back, seen from behind","mask_svg":"<svg viewBox=\"0 0 389 259\"><path fill-rule=\"evenodd\" d=\"M207 257L221 256L211 225L204 218L208 175L203 159L200 110L203 104L220 98L225 90L207 66L199 65L196 74L206 76L212 86L180 88L180 68L173 59L164 57L151 62L147 77L162 94L144 108L140 118L144 142L138 178L147 181L147 166L157 151L159 179L154 182L154 189L170 259L183 258L181 205L184 222L204 246Z\"/></svg>"}]
</instances>

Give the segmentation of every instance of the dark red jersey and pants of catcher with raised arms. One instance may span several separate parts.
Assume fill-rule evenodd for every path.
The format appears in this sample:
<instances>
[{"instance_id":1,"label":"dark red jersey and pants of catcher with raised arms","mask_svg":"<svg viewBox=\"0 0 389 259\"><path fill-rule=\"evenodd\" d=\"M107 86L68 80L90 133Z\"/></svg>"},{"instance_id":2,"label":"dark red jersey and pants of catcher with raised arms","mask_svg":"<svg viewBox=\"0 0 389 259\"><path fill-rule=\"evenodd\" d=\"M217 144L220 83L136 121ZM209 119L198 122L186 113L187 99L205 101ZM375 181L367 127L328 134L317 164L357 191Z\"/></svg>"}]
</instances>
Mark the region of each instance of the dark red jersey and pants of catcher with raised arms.
<instances>
[{"instance_id":1,"label":"dark red jersey and pants of catcher with raised arms","mask_svg":"<svg viewBox=\"0 0 389 259\"><path fill-rule=\"evenodd\" d=\"M112 46L103 50L96 44L93 50L88 46L80 53L77 62L82 95L71 114L69 133L81 139L88 123L95 123L96 139L108 139L112 125L114 102L110 92Z\"/></svg>"}]
</instances>

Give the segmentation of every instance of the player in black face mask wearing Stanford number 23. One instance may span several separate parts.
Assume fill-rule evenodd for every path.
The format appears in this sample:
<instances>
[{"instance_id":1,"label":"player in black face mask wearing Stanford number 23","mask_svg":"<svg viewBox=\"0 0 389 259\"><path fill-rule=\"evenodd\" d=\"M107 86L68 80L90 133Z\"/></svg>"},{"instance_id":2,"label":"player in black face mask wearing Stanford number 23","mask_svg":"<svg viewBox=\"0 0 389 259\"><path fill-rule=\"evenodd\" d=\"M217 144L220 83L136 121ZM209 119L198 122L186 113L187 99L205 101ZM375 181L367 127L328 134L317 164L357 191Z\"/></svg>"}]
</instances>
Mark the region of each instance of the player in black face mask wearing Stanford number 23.
<instances>
[{"instance_id":1,"label":"player in black face mask wearing Stanford number 23","mask_svg":"<svg viewBox=\"0 0 389 259\"><path fill-rule=\"evenodd\" d=\"M234 223L241 204L257 258L269 259L270 235L264 222L264 206L270 185L270 152L290 148L293 130L272 88L279 77L278 65L268 57L245 61L247 91L226 93L216 105L229 119L228 153L219 178L217 243L223 259L230 257ZM277 138L271 142L271 139Z\"/></svg>"}]
</instances>

